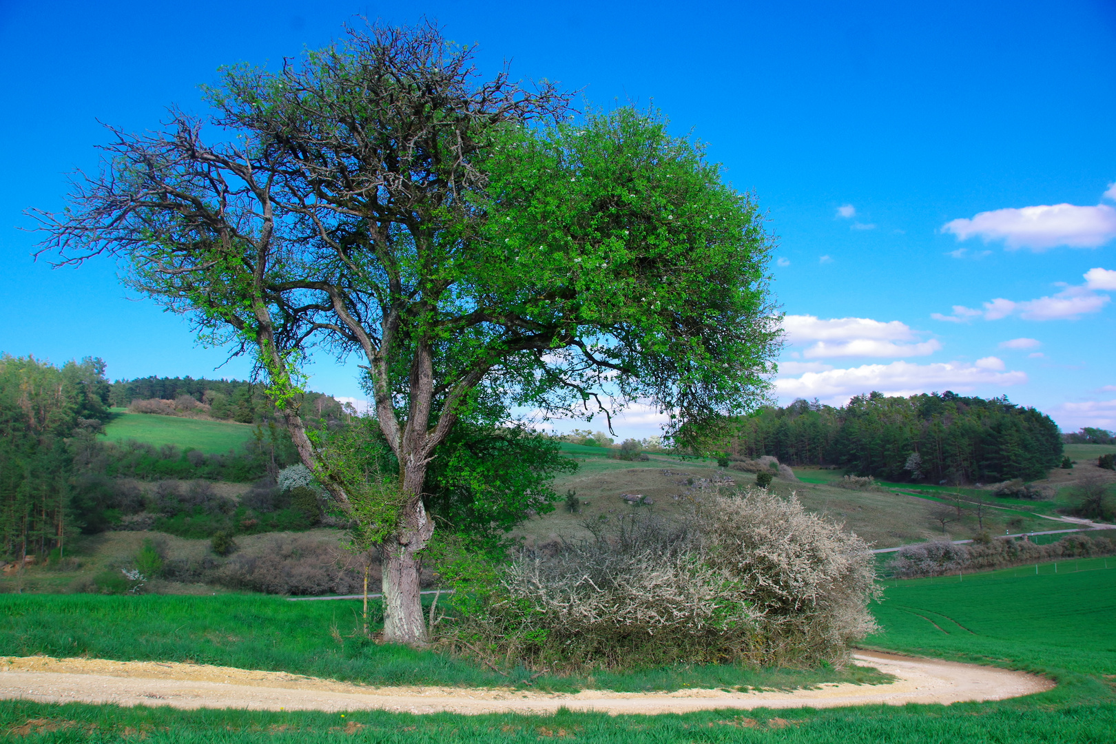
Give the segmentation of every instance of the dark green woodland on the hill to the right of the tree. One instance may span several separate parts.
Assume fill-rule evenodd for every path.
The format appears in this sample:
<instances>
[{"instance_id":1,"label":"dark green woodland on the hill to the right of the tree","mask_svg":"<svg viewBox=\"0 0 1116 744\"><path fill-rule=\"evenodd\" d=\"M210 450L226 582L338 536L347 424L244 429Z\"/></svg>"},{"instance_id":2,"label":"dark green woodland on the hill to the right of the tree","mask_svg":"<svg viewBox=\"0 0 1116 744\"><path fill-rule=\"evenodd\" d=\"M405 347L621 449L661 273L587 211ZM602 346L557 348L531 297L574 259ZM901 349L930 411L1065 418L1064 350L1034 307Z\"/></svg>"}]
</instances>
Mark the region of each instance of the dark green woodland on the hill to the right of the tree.
<instances>
[{"instance_id":1,"label":"dark green woodland on the hill to the right of the tree","mask_svg":"<svg viewBox=\"0 0 1116 744\"><path fill-rule=\"evenodd\" d=\"M949 390L906 398L870 393L839 408L802 399L766 407L741 419L723 446L738 457L773 455L789 465L930 483L1036 480L1062 457L1062 436L1046 414L1007 397Z\"/></svg>"}]
</instances>

